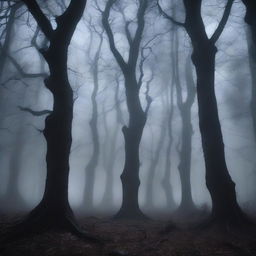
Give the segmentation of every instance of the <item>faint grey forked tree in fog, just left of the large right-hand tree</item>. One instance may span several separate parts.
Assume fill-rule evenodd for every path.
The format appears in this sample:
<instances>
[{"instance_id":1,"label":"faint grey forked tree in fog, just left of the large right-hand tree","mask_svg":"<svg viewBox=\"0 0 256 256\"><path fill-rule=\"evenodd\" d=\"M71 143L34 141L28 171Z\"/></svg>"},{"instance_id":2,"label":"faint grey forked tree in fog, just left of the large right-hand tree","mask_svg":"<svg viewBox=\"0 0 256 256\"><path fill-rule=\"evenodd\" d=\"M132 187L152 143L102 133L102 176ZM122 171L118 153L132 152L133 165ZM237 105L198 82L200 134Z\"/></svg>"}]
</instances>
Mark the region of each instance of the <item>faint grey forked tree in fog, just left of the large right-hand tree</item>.
<instances>
[{"instance_id":1,"label":"faint grey forked tree in fog, just left of the large right-hand tree","mask_svg":"<svg viewBox=\"0 0 256 256\"><path fill-rule=\"evenodd\" d=\"M193 127L191 122L191 107L195 101L195 85L193 81L192 68L190 67L190 56L186 61L185 67L185 80L187 97L184 100L182 95L182 87L179 75L179 40L178 33L175 33L175 51L173 51L173 65L174 65L174 76L176 85L177 104L181 115L182 130L181 130L181 149L179 150L180 163L178 170L180 173L181 181L181 203L177 210L178 214L189 215L195 210L195 204L192 199L191 192L191 151L192 151L192 135Z\"/></svg>"}]
</instances>

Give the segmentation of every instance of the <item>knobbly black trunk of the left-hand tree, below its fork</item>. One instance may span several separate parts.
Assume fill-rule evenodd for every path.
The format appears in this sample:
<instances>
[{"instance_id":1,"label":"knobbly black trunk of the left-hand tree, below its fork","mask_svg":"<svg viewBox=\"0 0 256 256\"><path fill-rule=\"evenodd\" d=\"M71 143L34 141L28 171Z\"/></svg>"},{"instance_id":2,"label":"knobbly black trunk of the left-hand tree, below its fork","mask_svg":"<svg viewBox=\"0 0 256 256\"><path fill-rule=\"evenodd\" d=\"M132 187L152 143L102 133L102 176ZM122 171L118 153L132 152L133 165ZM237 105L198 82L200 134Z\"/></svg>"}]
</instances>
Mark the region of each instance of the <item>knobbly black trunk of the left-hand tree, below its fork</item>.
<instances>
[{"instance_id":1,"label":"knobbly black trunk of the left-hand tree, below its fork","mask_svg":"<svg viewBox=\"0 0 256 256\"><path fill-rule=\"evenodd\" d=\"M37 209L52 224L61 225L66 216L72 216L68 202L69 154L73 118L73 91L67 77L67 49L52 44L44 54L50 68L45 86L54 98L53 111L45 120L47 141L47 177L43 199Z\"/></svg>"}]
</instances>

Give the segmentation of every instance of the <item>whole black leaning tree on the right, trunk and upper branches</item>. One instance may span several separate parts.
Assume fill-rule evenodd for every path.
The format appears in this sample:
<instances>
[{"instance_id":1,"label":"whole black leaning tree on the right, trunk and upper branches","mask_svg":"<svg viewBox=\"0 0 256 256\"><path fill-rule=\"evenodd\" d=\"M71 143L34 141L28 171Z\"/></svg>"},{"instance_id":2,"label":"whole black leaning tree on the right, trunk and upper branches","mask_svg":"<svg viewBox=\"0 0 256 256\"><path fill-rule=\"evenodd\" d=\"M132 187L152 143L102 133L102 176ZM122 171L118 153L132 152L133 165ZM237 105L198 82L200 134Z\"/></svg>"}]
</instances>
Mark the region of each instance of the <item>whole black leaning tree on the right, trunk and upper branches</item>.
<instances>
[{"instance_id":1,"label":"whole black leaning tree on the right, trunk and upper branches","mask_svg":"<svg viewBox=\"0 0 256 256\"><path fill-rule=\"evenodd\" d=\"M158 5L161 13L176 25L185 28L191 39L192 61L197 75L199 127L206 166L206 186L212 199L211 223L224 227L247 222L247 218L237 203L235 183L229 175L225 161L214 89L215 55L217 53L215 44L227 23L233 2L233 0L228 0L222 19L210 38L207 36L201 15L202 0L183 0L186 11L184 23L176 21Z\"/></svg>"}]
</instances>

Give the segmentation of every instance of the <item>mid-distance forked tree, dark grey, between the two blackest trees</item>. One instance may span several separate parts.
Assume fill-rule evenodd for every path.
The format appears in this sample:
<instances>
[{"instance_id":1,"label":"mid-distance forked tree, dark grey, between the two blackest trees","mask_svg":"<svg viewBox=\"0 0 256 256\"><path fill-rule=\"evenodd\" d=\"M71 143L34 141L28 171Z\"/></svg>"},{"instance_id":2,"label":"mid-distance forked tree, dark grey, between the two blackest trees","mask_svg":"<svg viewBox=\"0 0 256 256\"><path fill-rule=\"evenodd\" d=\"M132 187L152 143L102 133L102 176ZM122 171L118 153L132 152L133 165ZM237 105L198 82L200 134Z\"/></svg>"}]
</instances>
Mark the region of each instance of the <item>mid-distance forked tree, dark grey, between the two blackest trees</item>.
<instances>
[{"instance_id":1,"label":"mid-distance forked tree, dark grey, between the two blackest trees","mask_svg":"<svg viewBox=\"0 0 256 256\"><path fill-rule=\"evenodd\" d=\"M140 77L137 79L136 67L145 27L145 13L148 8L149 1L139 1L137 11L137 28L134 36L132 36L129 30L130 22L127 21L125 24L126 37L129 43L129 57L127 62L124 60L123 56L116 47L113 31L109 22L110 10L116 2L117 0L108 0L105 10L102 12L102 23L109 39L110 49L124 75L126 102L129 112L129 124L128 126L124 126L122 129L125 140L125 166L121 175L123 200L121 209L115 217L140 219L144 218L145 216L141 212L138 203L138 192L140 185L139 146L143 129L146 124L147 112L151 102L148 101L146 110L143 110L139 98L143 73L141 73Z\"/></svg>"}]
</instances>

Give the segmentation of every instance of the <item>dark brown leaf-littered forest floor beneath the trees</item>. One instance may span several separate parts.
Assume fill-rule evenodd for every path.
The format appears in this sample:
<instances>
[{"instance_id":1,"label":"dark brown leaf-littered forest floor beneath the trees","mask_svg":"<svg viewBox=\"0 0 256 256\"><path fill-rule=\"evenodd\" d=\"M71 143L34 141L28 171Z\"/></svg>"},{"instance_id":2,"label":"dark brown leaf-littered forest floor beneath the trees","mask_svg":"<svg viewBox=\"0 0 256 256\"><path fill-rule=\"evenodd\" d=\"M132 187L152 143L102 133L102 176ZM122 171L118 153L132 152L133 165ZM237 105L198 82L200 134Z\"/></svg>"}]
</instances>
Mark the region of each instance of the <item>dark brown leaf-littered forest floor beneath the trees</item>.
<instances>
[{"instance_id":1,"label":"dark brown leaf-littered forest floor beneath the trees","mask_svg":"<svg viewBox=\"0 0 256 256\"><path fill-rule=\"evenodd\" d=\"M4 223L0 219L1 230ZM105 244L93 244L70 233L46 232L5 245L0 256L256 256L256 236L252 233L175 226L163 232L167 222L149 220L84 218L81 223L92 235L104 238Z\"/></svg>"}]
</instances>

